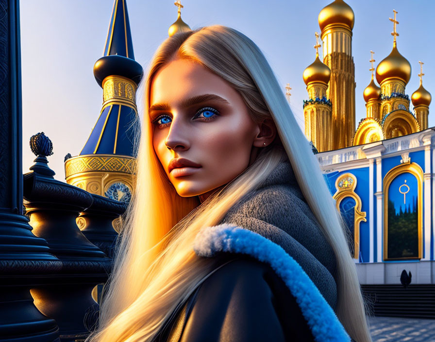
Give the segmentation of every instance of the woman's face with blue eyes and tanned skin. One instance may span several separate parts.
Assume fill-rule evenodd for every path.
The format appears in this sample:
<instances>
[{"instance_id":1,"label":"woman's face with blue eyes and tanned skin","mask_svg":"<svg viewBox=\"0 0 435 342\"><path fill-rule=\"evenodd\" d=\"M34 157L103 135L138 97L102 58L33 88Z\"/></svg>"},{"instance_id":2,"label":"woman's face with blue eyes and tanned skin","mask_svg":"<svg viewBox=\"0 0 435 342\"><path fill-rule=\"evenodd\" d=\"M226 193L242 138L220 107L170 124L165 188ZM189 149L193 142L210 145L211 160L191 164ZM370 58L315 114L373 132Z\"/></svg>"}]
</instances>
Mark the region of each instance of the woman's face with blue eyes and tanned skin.
<instances>
[{"instance_id":1,"label":"woman's face with blue eyes and tanned skin","mask_svg":"<svg viewBox=\"0 0 435 342\"><path fill-rule=\"evenodd\" d=\"M227 184L248 167L255 146L263 146L260 126L237 91L186 59L155 75L149 109L154 151L183 197Z\"/></svg>"}]
</instances>

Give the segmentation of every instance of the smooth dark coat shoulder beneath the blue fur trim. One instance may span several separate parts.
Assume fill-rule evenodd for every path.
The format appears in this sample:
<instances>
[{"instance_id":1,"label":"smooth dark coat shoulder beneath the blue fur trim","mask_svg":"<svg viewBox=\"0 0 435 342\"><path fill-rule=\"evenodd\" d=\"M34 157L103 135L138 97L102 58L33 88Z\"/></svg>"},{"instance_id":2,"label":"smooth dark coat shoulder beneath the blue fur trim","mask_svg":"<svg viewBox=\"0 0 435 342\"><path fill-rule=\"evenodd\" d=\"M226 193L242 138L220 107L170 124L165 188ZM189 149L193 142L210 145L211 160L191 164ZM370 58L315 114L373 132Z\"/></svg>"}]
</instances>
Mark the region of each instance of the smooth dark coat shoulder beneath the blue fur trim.
<instances>
[{"instance_id":1,"label":"smooth dark coat shoulder beneath the blue fur trim","mask_svg":"<svg viewBox=\"0 0 435 342\"><path fill-rule=\"evenodd\" d=\"M268 264L242 255L217 258L220 267L185 303L167 341L314 341L295 298Z\"/></svg>"}]
</instances>

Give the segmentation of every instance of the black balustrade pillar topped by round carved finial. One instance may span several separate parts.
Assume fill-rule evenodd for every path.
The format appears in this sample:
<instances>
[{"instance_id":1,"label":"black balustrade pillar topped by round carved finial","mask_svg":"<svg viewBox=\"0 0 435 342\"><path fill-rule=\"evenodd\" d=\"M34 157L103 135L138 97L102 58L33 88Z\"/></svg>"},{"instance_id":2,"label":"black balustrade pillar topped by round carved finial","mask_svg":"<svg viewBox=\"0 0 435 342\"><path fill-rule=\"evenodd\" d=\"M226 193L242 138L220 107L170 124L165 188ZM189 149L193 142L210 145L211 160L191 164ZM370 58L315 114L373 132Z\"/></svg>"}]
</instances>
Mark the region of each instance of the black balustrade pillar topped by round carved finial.
<instances>
[{"instance_id":1,"label":"black balustrade pillar topped by round carved finial","mask_svg":"<svg viewBox=\"0 0 435 342\"><path fill-rule=\"evenodd\" d=\"M37 158L24 175L24 205L34 234L47 240L62 262L62 269L31 293L39 311L56 320L61 341L73 342L86 338L96 323L98 305L91 292L107 280L111 259L76 224L79 213L92 205L92 195L53 178L46 158L52 145L44 133L31 138L31 148Z\"/></svg>"}]
</instances>

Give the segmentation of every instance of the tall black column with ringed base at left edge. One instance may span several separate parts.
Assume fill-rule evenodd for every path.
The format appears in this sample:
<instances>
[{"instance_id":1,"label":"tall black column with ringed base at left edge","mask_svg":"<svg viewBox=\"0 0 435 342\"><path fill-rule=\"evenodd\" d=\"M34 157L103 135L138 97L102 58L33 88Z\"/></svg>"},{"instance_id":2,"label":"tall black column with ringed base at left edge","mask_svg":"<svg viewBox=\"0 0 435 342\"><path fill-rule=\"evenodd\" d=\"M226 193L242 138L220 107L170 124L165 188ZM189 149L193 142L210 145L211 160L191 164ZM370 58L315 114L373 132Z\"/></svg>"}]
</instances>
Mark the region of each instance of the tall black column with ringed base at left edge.
<instances>
[{"instance_id":1,"label":"tall black column with ringed base at left edge","mask_svg":"<svg viewBox=\"0 0 435 342\"><path fill-rule=\"evenodd\" d=\"M0 338L58 341L55 321L29 293L62 264L23 216L20 68L18 0L0 0Z\"/></svg>"}]
</instances>

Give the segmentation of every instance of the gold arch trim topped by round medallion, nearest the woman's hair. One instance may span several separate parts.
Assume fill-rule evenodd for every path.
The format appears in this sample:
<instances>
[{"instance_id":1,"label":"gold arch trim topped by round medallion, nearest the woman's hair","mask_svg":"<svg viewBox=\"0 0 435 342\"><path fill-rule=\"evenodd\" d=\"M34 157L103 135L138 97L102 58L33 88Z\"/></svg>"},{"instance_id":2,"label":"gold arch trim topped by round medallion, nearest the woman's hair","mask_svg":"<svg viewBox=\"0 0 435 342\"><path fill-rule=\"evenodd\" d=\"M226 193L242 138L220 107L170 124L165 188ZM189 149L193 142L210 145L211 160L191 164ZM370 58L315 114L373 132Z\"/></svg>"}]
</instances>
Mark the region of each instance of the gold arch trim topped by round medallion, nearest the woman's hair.
<instances>
[{"instance_id":1,"label":"gold arch trim topped by round medallion, nearest the woman's hair","mask_svg":"<svg viewBox=\"0 0 435 342\"><path fill-rule=\"evenodd\" d=\"M350 179L351 182L344 183L344 186L339 186L341 181L346 181ZM355 192L356 188L356 177L354 174L348 172L340 175L335 180L335 188L337 191L335 192L333 198L335 199L335 206L340 212L340 203L346 197L351 197L355 201L354 208L354 221L353 221L353 258L358 259L359 257L359 226L361 222L367 222L366 216L367 213L365 211L361 211L362 201L358 194Z\"/></svg>"}]
</instances>

